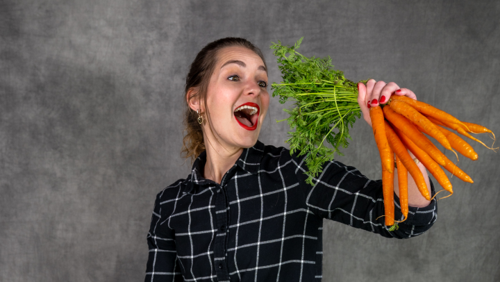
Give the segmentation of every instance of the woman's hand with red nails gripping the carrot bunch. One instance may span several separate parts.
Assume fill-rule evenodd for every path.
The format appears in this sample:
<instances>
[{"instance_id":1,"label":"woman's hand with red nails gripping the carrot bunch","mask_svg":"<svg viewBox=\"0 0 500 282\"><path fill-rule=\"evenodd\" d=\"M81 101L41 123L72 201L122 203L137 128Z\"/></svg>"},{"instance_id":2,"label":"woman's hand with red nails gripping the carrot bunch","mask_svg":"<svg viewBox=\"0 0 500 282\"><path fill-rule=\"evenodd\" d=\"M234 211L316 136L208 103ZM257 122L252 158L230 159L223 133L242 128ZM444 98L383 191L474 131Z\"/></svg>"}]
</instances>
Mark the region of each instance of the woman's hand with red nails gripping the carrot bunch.
<instances>
[{"instance_id":1,"label":"woman's hand with red nails gripping the carrot bunch","mask_svg":"<svg viewBox=\"0 0 500 282\"><path fill-rule=\"evenodd\" d=\"M392 94L417 99L417 96L411 90L399 88L394 82L385 83L383 81L375 81L374 79L367 81L366 85L358 83L358 92L358 104L363 113L363 119L365 119L369 126L372 126L372 120L369 117L369 108L387 103Z\"/></svg>"}]
</instances>

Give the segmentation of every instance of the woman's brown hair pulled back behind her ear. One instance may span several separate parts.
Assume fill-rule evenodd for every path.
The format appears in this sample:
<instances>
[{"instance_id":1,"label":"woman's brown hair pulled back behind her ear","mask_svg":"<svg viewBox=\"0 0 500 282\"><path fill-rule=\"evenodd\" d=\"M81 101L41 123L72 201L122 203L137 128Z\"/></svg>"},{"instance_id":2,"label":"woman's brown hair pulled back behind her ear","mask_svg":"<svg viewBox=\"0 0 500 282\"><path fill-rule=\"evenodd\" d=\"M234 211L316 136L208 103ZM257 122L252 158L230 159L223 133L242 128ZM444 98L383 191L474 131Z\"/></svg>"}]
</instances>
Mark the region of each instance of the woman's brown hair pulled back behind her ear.
<instances>
[{"instance_id":1,"label":"woman's brown hair pulled back behind her ear","mask_svg":"<svg viewBox=\"0 0 500 282\"><path fill-rule=\"evenodd\" d=\"M267 65L264 60L263 53L255 45L251 44L248 40L244 38L222 38L210 42L199 51L196 58L194 58L191 63L190 71L188 76L186 76L186 84L184 88L184 101L185 101L185 112L184 112L184 131L186 135L183 138L183 147L181 150L181 156L183 158L191 158L191 163L205 151L205 140L203 140L203 127L198 123L198 114L195 110L192 110L189 106L189 102L185 99L186 94L191 88L197 88L197 92L189 97L191 99L199 99L203 101L200 106L203 108L200 111L206 113L208 117L208 126L210 131L212 126L210 126L210 113L208 113L208 108L206 108L206 92L208 89L208 83L210 77L213 74L215 65L217 64L217 54L219 50L225 47L244 47L255 52L264 62L264 66L267 69ZM203 115L202 115L203 116Z\"/></svg>"}]
</instances>

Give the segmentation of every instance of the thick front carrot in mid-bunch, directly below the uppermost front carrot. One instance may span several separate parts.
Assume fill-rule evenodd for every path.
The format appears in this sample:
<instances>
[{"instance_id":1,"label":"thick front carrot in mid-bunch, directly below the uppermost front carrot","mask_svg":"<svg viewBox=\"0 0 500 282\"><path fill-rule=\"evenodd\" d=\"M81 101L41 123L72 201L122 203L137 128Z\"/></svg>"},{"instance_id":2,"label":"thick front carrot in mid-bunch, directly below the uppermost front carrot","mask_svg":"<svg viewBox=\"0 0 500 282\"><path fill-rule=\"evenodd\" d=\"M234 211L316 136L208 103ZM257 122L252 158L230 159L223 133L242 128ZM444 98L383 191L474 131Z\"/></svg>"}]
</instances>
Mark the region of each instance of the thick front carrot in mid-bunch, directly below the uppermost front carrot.
<instances>
[{"instance_id":1,"label":"thick front carrot in mid-bunch, directly below the uppermost front carrot","mask_svg":"<svg viewBox=\"0 0 500 282\"><path fill-rule=\"evenodd\" d=\"M422 132L420 132L406 117L399 115L399 113L394 112L391 107L385 106L383 108L383 113L385 118L394 125L394 127L401 130L408 138L412 140L420 149L424 150L429 156L431 156L440 165L446 165L444 162L444 154L438 150L431 140L425 137Z\"/></svg>"}]
</instances>

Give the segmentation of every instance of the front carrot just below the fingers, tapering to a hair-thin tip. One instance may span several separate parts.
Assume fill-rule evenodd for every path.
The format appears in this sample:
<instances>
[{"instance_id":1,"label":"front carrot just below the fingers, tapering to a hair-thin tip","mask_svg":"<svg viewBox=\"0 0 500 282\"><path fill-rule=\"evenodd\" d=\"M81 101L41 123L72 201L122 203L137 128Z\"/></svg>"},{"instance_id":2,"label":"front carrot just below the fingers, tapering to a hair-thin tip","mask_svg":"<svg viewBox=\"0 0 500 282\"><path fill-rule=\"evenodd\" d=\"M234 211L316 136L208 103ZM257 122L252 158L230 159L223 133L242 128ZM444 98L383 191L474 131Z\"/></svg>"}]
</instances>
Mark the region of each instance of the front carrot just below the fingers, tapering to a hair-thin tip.
<instances>
[{"instance_id":1,"label":"front carrot just below the fingers, tapering to a hair-thin tip","mask_svg":"<svg viewBox=\"0 0 500 282\"><path fill-rule=\"evenodd\" d=\"M447 138L444 136L443 133L439 129L437 129L437 126L430 122L424 115L418 112L418 110L415 110L415 108L412 108L412 106L408 105L408 103L405 103L403 101L399 100L394 100L390 103L390 107L396 112L399 113L406 118L410 119L411 122L414 124L419 124L424 128L425 132L428 135L431 135L431 137L435 138L437 142L440 142L444 146L444 148L449 149L450 151L453 151L451 148L451 144L447 140Z\"/></svg>"}]
</instances>

